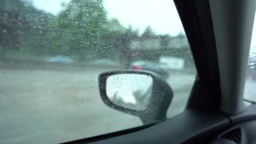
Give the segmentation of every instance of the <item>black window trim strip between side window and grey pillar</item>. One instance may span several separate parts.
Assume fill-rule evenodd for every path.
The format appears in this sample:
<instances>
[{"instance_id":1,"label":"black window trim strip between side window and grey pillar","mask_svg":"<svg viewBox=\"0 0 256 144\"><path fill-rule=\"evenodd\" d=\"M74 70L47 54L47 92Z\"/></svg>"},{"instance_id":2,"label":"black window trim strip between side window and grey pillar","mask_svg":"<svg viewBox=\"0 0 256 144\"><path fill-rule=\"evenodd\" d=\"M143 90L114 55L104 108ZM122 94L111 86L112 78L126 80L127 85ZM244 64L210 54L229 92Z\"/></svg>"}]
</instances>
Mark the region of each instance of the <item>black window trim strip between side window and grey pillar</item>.
<instances>
[{"instance_id":1,"label":"black window trim strip between side window and grey pillar","mask_svg":"<svg viewBox=\"0 0 256 144\"><path fill-rule=\"evenodd\" d=\"M197 76L188 109L219 111L221 93L209 1L174 0L194 57Z\"/></svg>"}]
</instances>

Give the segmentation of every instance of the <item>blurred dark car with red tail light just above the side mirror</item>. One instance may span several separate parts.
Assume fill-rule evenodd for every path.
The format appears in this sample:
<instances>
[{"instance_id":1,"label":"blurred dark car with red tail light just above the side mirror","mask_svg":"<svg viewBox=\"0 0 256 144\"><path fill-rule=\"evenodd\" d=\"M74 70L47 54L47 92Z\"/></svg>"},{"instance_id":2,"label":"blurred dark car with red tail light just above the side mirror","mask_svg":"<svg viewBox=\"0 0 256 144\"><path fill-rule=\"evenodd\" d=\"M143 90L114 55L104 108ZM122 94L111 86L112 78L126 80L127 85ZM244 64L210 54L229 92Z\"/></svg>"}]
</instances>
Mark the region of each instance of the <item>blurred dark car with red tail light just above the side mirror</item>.
<instances>
[{"instance_id":1,"label":"blurred dark car with red tail light just above the side mirror","mask_svg":"<svg viewBox=\"0 0 256 144\"><path fill-rule=\"evenodd\" d=\"M168 71L162 68L161 65L156 62L134 61L127 63L124 69L148 70L159 74L163 79L167 79L169 77Z\"/></svg>"}]
</instances>

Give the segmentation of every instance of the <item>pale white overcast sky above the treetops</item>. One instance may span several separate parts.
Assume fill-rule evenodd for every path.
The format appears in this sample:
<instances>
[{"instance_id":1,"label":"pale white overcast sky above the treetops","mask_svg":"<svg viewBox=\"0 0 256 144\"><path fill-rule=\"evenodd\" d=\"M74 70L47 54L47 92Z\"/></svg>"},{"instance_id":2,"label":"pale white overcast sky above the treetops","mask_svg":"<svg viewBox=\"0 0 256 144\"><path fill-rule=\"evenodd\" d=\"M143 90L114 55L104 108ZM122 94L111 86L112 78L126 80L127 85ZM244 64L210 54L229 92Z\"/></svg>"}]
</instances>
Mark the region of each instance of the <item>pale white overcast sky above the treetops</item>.
<instances>
[{"instance_id":1,"label":"pale white overcast sky above the treetops","mask_svg":"<svg viewBox=\"0 0 256 144\"><path fill-rule=\"evenodd\" d=\"M34 6L57 15L61 3L70 0L32 0ZM142 32L151 26L158 34L177 35L183 31L176 7L170 0L103 0L109 18L117 18L125 27L129 24ZM252 35L252 46L256 46L256 22Z\"/></svg>"}]
</instances>

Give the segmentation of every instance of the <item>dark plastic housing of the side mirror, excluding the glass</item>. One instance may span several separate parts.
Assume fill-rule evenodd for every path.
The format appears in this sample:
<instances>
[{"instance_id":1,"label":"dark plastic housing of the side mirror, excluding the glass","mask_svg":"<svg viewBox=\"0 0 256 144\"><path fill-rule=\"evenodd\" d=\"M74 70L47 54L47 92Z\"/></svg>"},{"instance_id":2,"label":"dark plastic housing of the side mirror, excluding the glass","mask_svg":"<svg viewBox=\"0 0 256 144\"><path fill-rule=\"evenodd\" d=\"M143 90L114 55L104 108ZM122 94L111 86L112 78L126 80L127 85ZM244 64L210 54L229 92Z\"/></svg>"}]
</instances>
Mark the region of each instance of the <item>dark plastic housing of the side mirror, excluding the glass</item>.
<instances>
[{"instance_id":1,"label":"dark plastic housing of the side mirror, excluding the glass","mask_svg":"<svg viewBox=\"0 0 256 144\"><path fill-rule=\"evenodd\" d=\"M128 107L117 105L109 99L106 92L107 79L109 76L121 74L138 74L152 77L152 97L150 98L149 104L146 106L146 109L129 109ZM101 99L107 106L111 107L112 109L128 113L133 116L138 116L144 124L164 121L166 119L167 109L170 106L173 98L172 89L170 88L168 83L161 78L160 75L150 71L143 70L120 70L102 73L99 75L99 88ZM129 91L129 89L127 89L127 91Z\"/></svg>"}]
</instances>

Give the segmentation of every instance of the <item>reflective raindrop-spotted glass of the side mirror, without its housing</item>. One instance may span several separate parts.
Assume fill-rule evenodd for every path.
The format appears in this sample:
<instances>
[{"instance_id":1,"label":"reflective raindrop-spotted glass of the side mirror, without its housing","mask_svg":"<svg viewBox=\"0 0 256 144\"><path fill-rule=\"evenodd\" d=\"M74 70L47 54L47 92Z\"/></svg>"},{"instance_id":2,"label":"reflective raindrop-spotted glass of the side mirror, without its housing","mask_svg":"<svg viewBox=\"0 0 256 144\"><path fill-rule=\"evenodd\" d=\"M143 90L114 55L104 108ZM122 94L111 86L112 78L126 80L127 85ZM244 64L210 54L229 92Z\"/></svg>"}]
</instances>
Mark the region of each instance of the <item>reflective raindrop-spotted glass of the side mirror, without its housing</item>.
<instances>
[{"instance_id":1,"label":"reflective raindrop-spotted glass of the side mirror, without its housing","mask_svg":"<svg viewBox=\"0 0 256 144\"><path fill-rule=\"evenodd\" d=\"M153 79L144 74L115 74L107 78L106 94L113 104L146 110L152 97Z\"/></svg>"}]
</instances>

